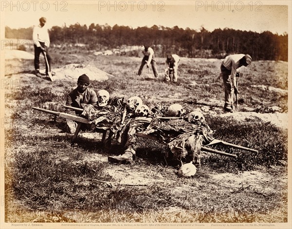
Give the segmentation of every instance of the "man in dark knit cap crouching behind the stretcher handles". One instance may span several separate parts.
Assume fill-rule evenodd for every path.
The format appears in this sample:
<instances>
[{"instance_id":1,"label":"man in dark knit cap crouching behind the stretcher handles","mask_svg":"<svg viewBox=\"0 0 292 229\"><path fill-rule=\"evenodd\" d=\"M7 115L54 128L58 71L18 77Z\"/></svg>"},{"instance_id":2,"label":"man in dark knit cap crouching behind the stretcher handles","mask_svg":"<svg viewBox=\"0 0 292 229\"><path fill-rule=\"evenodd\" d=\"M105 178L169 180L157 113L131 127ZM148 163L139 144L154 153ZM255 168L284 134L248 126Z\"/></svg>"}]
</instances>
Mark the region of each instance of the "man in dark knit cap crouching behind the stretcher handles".
<instances>
[{"instance_id":1,"label":"man in dark knit cap crouching behind the stretcher handles","mask_svg":"<svg viewBox=\"0 0 292 229\"><path fill-rule=\"evenodd\" d=\"M90 79L86 74L78 77L77 87L67 95L66 106L82 108L81 104L92 104L95 105L97 102L96 93L89 89ZM66 113L71 115L81 115L82 112L74 111L73 109L66 108ZM73 120L66 119L67 131L73 134L76 130L77 123Z\"/></svg>"}]
</instances>

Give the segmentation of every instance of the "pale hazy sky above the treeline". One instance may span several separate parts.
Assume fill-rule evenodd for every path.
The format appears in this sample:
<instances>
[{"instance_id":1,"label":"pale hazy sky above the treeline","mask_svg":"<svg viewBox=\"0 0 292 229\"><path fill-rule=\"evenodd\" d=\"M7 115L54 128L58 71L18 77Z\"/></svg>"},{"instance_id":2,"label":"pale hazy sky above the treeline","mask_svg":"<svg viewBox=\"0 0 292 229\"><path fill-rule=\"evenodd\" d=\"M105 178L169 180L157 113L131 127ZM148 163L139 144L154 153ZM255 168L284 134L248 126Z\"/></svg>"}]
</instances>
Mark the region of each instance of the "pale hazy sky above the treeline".
<instances>
[{"instance_id":1,"label":"pale hazy sky above the treeline","mask_svg":"<svg viewBox=\"0 0 292 229\"><path fill-rule=\"evenodd\" d=\"M254 5L251 5L253 2ZM49 4L48 4L49 3ZM147 3L147 4L146 4ZM244 3L244 4L243 4ZM269 5L267 5L267 3ZM275 5L277 4L277 5ZM40 17L47 18L50 27L91 23L110 26L115 24L138 26L179 26L185 29L208 31L217 28L273 33L289 33L288 6L290 1L1 1L4 25L10 28L27 28L38 24ZM3 23L3 21L2 21Z\"/></svg>"}]
</instances>

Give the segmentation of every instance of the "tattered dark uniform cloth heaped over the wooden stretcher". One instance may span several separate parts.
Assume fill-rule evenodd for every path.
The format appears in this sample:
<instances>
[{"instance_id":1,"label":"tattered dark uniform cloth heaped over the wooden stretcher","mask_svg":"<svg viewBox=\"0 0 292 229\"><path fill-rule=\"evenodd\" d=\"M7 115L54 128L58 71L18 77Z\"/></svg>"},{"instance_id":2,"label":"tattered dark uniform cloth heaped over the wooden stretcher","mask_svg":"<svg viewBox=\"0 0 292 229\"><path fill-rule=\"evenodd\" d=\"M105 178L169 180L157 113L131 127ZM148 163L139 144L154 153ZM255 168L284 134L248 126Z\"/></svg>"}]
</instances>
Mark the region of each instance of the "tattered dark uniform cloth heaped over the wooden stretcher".
<instances>
[{"instance_id":1,"label":"tattered dark uniform cloth heaped over the wooden stretcher","mask_svg":"<svg viewBox=\"0 0 292 229\"><path fill-rule=\"evenodd\" d=\"M157 109L157 113L159 114ZM126 151L135 154L136 132L155 135L168 145L178 160L199 161L201 146L214 138L206 123L193 124L183 118L135 117L127 111L124 98L114 97L105 107L84 105L82 115L87 116L96 128L110 130L112 138L125 145Z\"/></svg>"}]
</instances>

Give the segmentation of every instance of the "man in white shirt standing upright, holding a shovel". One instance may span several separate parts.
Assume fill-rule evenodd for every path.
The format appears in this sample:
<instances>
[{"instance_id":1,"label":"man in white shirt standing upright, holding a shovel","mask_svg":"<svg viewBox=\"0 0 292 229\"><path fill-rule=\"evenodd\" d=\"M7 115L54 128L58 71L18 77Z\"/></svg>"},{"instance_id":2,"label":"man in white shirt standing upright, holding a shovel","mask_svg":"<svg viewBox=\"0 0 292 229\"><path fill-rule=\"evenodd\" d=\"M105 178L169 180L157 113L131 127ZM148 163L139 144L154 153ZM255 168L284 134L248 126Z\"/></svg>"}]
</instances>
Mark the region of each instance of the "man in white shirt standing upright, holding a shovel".
<instances>
[{"instance_id":1,"label":"man in white shirt standing upright, holding a shovel","mask_svg":"<svg viewBox=\"0 0 292 229\"><path fill-rule=\"evenodd\" d=\"M49 69L51 70L51 57L48 53L48 48L50 47L50 37L47 26L45 26L47 22L47 19L44 17L41 17L39 19L39 25L34 27L33 30L33 40L34 40L34 48L35 48L35 74L38 77L41 77L42 75L39 73L39 55L42 53L44 55L44 52L46 52L47 60L49 66L47 66L46 63L46 76L49 76L48 72ZM51 72L52 75L55 75L53 72Z\"/></svg>"}]
</instances>

